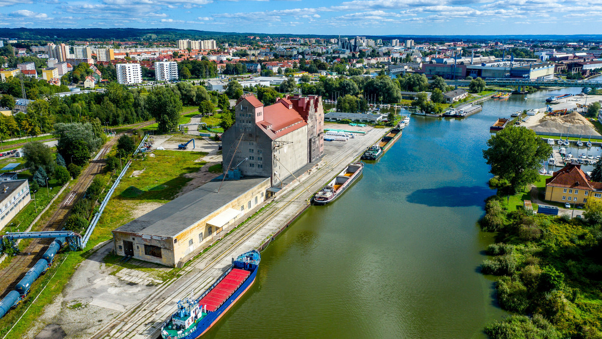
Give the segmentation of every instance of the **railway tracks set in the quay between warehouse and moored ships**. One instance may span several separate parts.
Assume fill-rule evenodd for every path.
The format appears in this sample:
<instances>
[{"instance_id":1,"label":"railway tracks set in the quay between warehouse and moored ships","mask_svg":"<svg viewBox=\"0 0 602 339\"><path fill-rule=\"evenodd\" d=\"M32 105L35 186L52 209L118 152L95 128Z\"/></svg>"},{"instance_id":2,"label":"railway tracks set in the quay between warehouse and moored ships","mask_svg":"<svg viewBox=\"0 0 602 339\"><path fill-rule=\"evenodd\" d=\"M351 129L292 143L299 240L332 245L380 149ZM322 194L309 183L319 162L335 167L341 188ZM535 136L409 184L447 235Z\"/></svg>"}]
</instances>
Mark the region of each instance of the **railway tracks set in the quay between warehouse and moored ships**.
<instances>
[{"instance_id":1,"label":"railway tracks set in the quay between warehouse and moored ships","mask_svg":"<svg viewBox=\"0 0 602 339\"><path fill-rule=\"evenodd\" d=\"M381 135L376 131L378 137ZM374 135L373 135L374 138ZM376 142L376 139L373 140ZM370 145L371 143L370 142ZM358 143L347 152L333 157L327 161L326 166L319 172L318 175L311 176L302 182L302 187L297 187L296 190L289 190L276 201L278 204L269 211L263 211L258 217L255 217L251 222L248 222L238 228L228 237L223 238L220 243L206 252L202 258L196 260L195 263L188 265L184 269L184 274L170 282L163 284L157 288L149 296L145 297L139 303L131 305L125 312L111 320L107 325L103 326L92 338L130 338L130 337L145 337L155 339L159 337L161 323L175 311L175 308L170 307L174 300L188 296L191 291L196 296L203 290L213 284L216 272L221 272L222 266L228 266L229 258L235 257L238 253L249 250L252 247L257 247L262 239L256 244L252 243L262 235L264 228L268 224L278 224L277 218L281 213L296 212L296 207L300 202L304 202L311 193L303 187L308 187L311 192L317 191L330 176L336 175L349 162L351 156L361 154L365 150L364 143ZM297 204L297 205L296 205ZM265 235L264 235L265 236ZM252 241L253 240L253 241ZM244 247L244 248L241 248ZM248 248L247 248L248 247Z\"/></svg>"}]
</instances>

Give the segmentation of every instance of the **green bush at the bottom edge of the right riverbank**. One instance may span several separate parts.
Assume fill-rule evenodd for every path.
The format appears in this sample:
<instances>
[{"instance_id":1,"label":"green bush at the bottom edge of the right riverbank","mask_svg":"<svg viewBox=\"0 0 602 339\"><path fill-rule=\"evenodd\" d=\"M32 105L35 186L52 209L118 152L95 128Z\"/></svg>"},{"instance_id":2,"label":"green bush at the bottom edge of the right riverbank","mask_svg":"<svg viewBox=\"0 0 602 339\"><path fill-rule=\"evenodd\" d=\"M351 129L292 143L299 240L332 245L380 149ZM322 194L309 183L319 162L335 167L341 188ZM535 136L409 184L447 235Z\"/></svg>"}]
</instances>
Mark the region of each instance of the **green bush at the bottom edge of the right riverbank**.
<instances>
[{"instance_id":1,"label":"green bush at the bottom edge of the right riverbank","mask_svg":"<svg viewBox=\"0 0 602 339\"><path fill-rule=\"evenodd\" d=\"M560 339L562 335L539 314L533 318L510 316L489 324L485 333L491 339Z\"/></svg>"}]
</instances>

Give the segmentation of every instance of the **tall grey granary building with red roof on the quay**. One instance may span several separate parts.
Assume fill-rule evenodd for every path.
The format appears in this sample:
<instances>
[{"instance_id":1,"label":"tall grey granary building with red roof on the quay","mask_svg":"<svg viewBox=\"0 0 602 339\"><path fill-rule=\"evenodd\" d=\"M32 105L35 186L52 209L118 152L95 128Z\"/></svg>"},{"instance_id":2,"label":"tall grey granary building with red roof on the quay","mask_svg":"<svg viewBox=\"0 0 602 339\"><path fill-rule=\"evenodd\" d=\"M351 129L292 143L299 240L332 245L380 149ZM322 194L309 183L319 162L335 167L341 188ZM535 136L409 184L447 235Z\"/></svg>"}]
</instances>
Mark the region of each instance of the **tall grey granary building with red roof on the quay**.
<instances>
[{"instance_id":1,"label":"tall grey granary building with red roof on the quay","mask_svg":"<svg viewBox=\"0 0 602 339\"><path fill-rule=\"evenodd\" d=\"M235 123L222 135L224 171L281 184L324 152L321 96L285 96L264 106L252 94L235 104Z\"/></svg>"}]
</instances>

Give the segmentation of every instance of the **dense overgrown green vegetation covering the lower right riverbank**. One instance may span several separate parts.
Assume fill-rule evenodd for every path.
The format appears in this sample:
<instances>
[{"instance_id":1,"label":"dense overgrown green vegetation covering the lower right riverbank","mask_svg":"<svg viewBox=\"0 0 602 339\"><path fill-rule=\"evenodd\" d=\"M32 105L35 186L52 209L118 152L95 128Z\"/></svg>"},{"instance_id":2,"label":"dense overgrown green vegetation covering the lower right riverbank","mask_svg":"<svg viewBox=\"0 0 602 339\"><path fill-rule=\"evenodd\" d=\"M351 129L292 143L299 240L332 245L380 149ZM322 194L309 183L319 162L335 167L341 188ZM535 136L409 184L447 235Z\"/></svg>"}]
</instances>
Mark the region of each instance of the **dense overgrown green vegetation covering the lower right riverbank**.
<instances>
[{"instance_id":1,"label":"dense overgrown green vegetation covering the lower right riverbank","mask_svg":"<svg viewBox=\"0 0 602 339\"><path fill-rule=\"evenodd\" d=\"M600 338L602 336L602 204L580 218L518 209L500 197L486 202L482 227L497 231L483 274L500 276L500 306L520 314L488 325L491 338ZM596 199L592 199L596 200Z\"/></svg>"}]
</instances>

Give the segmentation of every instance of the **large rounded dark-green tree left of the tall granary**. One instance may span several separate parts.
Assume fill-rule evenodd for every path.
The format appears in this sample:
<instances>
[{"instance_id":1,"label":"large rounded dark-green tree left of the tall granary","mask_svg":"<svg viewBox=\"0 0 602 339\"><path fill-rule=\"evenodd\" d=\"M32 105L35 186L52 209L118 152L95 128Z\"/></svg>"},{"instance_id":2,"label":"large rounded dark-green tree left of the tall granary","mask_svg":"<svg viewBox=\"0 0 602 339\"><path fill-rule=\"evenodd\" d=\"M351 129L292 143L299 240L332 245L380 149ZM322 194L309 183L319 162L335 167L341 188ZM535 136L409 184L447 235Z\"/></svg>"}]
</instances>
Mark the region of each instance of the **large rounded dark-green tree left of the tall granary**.
<instances>
[{"instance_id":1,"label":"large rounded dark-green tree left of the tall granary","mask_svg":"<svg viewBox=\"0 0 602 339\"><path fill-rule=\"evenodd\" d=\"M157 121L157 131L167 133L178 126L182 100L170 90L159 87L149 93L146 99L148 112Z\"/></svg>"}]
</instances>

